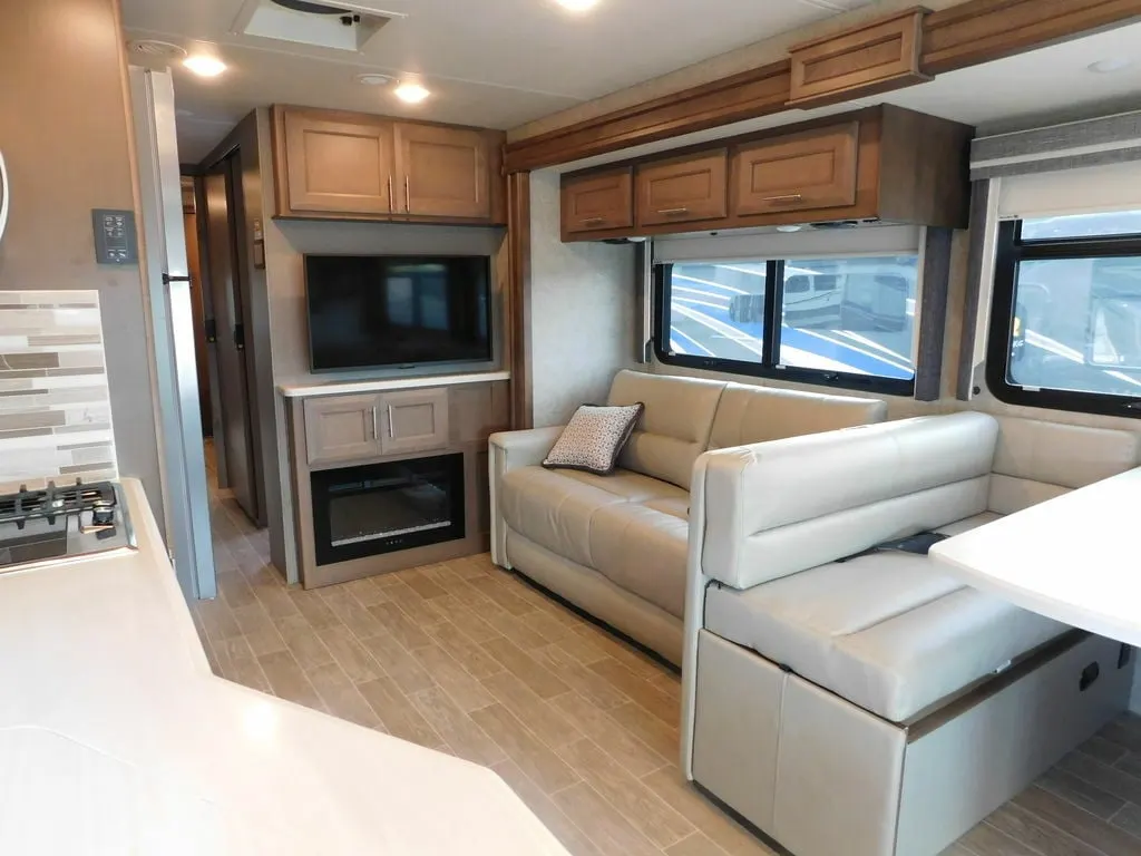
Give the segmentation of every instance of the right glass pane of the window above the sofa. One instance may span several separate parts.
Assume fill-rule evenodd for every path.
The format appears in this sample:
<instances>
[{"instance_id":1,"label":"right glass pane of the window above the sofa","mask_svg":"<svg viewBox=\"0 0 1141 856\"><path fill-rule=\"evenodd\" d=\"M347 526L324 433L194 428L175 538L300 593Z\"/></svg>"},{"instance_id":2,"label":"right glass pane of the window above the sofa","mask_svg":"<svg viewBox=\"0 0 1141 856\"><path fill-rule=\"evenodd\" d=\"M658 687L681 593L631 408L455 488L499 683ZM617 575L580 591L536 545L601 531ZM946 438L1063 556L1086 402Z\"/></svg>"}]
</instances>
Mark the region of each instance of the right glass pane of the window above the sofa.
<instances>
[{"instance_id":1,"label":"right glass pane of the window above the sofa","mask_svg":"<svg viewBox=\"0 0 1141 856\"><path fill-rule=\"evenodd\" d=\"M790 259L783 365L913 380L916 256Z\"/></svg>"}]
</instances>

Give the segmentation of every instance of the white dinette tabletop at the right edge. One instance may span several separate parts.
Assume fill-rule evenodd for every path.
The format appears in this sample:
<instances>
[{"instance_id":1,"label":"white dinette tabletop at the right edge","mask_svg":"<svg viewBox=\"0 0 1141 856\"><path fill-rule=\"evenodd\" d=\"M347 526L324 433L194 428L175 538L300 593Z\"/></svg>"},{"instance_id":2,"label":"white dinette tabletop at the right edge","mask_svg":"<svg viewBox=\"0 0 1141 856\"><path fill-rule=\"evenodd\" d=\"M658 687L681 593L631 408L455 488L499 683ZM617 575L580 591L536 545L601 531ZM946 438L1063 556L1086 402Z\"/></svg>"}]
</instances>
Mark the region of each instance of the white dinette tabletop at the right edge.
<instances>
[{"instance_id":1,"label":"white dinette tabletop at the right edge","mask_svg":"<svg viewBox=\"0 0 1141 856\"><path fill-rule=\"evenodd\" d=\"M1141 468L940 541L930 556L968 586L1141 646Z\"/></svg>"}]
</instances>

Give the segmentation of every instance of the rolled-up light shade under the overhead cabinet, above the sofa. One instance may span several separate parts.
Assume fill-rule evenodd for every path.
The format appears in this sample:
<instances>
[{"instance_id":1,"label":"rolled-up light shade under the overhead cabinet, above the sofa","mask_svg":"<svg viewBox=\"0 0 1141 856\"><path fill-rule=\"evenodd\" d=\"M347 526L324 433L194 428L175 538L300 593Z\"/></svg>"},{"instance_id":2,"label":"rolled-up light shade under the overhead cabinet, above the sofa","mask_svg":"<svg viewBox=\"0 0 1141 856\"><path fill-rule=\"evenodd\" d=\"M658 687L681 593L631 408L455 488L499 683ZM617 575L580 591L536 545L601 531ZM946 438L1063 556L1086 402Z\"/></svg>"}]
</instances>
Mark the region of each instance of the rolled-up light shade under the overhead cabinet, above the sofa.
<instances>
[{"instance_id":1,"label":"rolled-up light shade under the overhead cabinet, above the sofa","mask_svg":"<svg viewBox=\"0 0 1141 856\"><path fill-rule=\"evenodd\" d=\"M800 232L751 232L654 239L654 261L745 261L750 259L914 256L919 226L852 226Z\"/></svg>"}]
</instances>

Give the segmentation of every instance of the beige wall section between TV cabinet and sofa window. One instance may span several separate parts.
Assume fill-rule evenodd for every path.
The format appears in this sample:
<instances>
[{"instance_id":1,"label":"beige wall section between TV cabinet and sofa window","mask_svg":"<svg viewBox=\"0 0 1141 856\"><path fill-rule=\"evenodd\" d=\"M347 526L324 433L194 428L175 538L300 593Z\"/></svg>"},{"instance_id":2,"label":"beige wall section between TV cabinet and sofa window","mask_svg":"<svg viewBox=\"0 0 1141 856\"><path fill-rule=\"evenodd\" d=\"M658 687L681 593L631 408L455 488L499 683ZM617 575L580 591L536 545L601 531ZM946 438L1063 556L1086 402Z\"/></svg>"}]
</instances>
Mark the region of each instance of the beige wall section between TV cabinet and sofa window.
<instances>
[{"instance_id":1,"label":"beige wall section between TV cabinet and sofa window","mask_svg":"<svg viewBox=\"0 0 1141 856\"><path fill-rule=\"evenodd\" d=\"M536 427L606 401L633 362L634 248L563 243L559 176L531 175L531 341Z\"/></svg>"}]
</instances>

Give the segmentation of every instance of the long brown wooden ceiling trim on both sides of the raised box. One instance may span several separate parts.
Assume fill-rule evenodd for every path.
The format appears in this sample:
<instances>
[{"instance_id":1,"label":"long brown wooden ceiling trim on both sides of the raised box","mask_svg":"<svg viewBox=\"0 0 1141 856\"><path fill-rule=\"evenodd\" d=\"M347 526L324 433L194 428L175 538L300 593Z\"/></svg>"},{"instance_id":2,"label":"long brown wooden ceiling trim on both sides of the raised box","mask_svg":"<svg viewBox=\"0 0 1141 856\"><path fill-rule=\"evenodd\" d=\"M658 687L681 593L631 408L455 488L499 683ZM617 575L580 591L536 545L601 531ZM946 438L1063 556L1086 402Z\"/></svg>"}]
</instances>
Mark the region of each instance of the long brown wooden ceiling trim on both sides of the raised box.
<instances>
[{"instance_id":1,"label":"long brown wooden ceiling trim on both sides of the raised box","mask_svg":"<svg viewBox=\"0 0 1141 856\"><path fill-rule=\"evenodd\" d=\"M941 74L981 65L1139 17L1141 0L966 0L924 17L920 67ZM847 97L867 94L857 88ZM782 59L510 143L505 168L542 169L772 115L791 98L792 63Z\"/></svg>"}]
</instances>

